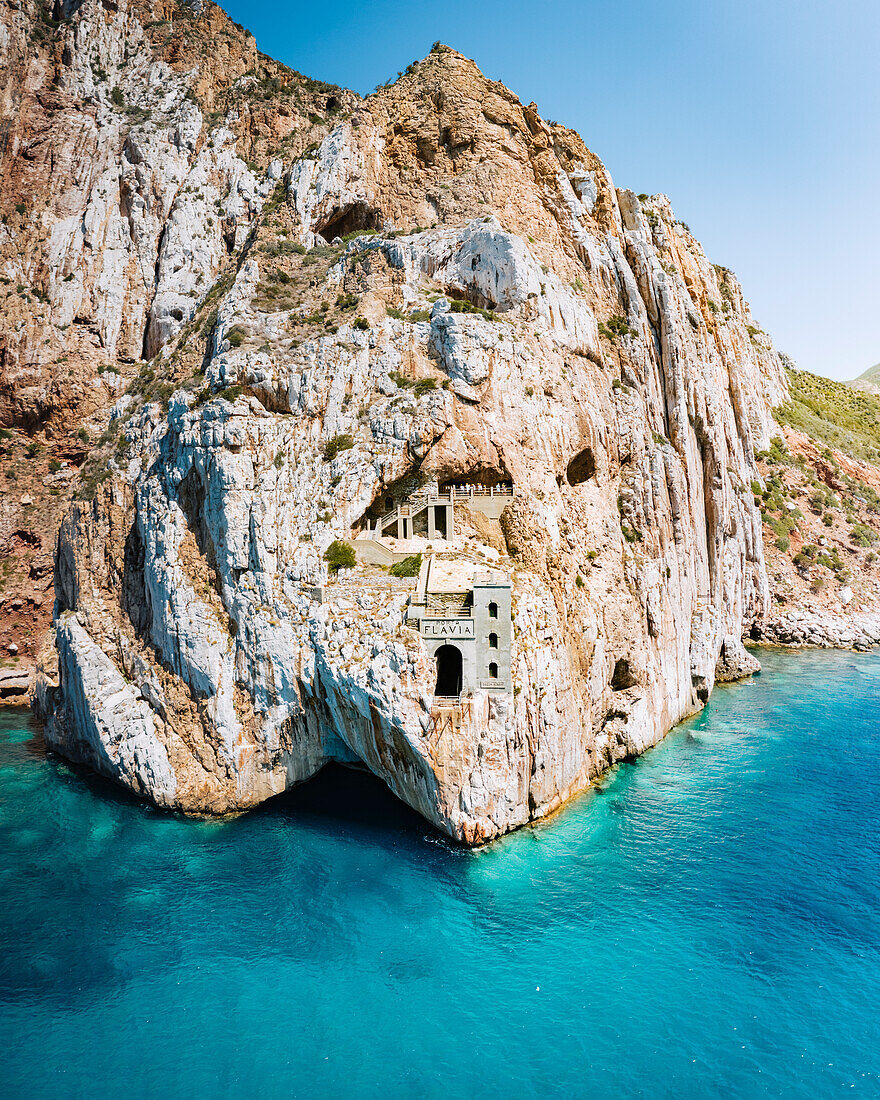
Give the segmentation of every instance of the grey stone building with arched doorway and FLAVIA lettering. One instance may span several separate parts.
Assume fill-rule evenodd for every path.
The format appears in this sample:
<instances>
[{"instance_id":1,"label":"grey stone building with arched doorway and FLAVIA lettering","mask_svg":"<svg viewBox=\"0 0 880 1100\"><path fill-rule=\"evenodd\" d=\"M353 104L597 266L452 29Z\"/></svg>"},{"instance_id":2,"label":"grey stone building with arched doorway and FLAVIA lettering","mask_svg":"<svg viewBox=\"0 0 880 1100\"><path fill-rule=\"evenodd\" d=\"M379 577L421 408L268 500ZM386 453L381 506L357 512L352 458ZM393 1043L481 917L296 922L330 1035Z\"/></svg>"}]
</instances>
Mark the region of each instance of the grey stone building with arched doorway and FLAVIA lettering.
<instances>
[{"instance_id":1,"label":"grey stone building with arched doorway and FLAVIA lettering","mask_svg":"<svg viewBox=\"0 0 880 1100\"><path fill-rule=\"evenodd\" d=\"M436 698L513 690L505 573L432 554L422 562L407 623L437 661Z\"/></svg>"}]
</instances>

